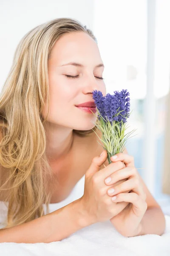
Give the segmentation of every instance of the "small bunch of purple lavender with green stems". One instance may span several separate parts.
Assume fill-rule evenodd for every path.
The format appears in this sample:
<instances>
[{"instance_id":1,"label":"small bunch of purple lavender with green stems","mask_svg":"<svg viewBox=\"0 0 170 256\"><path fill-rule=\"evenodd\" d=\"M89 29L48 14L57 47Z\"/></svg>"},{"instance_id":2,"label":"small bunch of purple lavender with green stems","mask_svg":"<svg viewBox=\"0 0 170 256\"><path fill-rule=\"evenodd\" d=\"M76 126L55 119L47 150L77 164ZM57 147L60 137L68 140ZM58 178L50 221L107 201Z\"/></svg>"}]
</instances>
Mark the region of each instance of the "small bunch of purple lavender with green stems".
<instances>
[{"instance_id":1,"label":"small bunch of purple lavender with green stems","mask_svg":"<svg viewBox=\"0 0 170 256\"><path fill-rule=\"evenodd\" d=\"M114 91L113 95L108 93L106 96L103 96L101 91L93 91L93 99L98 113L95 125L102 132L102 137L96 135L103 143L102 147L108 152L109 164L113 155L124 151L127 140L135 131L125 134L128 128L127 118L130 116L129 95L127 90Z\"/></svg>"}]
</instances>

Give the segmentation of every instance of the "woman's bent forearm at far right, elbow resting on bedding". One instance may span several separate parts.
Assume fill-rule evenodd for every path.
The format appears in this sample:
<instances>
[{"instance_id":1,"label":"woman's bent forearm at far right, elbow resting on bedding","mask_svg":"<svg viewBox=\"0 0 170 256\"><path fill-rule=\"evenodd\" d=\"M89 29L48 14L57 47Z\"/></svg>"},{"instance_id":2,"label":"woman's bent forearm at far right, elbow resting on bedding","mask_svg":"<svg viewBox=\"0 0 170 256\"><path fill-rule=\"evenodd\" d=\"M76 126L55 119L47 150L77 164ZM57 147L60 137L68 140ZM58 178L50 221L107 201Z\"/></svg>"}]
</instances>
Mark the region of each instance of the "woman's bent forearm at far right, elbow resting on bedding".
<instances>
[{"instance_id":1,"label":"woman's bent forearm at far right, elbow resting on bedding","mask_svg":"<svg viewBox=\"0 0 170 256\"><path fill-rule=\"evenodd\" d=\"M165 230L164 213L159 207L150 207L146 210L140 224L142 228L138 236L146 234L161 236Z\"/></svg>"}]
</instances>

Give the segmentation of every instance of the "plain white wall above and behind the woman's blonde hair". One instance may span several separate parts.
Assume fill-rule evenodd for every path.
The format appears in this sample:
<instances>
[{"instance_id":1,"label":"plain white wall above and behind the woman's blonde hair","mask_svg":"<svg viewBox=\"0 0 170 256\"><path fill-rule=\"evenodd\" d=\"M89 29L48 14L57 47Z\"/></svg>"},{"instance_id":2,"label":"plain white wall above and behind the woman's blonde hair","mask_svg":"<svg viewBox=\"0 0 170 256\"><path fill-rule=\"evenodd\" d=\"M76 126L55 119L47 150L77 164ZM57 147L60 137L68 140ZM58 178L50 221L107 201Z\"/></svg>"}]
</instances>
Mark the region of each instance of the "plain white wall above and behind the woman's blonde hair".
<instances>
[{"instance_id":1,"label":"plain white wall above and behind the woman's blonde hair","mask_svg":"<svg viewBox=\"0 0 170 256\"><path fill-rule=\"evenodd\" d=\"M0 0L0 90L23 35L59 17L77 19L93 29L94 0Z\"/></svg>"}]
</instances>

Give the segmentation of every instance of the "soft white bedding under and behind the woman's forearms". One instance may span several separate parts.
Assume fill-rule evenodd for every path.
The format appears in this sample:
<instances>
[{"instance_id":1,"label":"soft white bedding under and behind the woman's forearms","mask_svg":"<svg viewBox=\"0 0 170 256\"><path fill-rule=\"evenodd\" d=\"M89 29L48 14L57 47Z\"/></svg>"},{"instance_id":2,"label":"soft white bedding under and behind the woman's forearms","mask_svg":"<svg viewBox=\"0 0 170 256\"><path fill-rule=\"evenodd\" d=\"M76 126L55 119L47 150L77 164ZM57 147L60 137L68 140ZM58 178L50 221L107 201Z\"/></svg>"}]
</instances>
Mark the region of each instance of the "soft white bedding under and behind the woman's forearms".
<instances>
[{"instance_id":1,"label":"soft white bedding under and behind the woman's forearms","mask_svg":"<svg viewBox=\"0 0 170 256\"><path fill-rule=\"evenodd\" d=\"M50 211L81 197L84 192L83 182L84 177L66 200L51 204ZM0 207L2 209L2 202ZM4 209L4 216L5 212ZM170 216L165 215L165 218L166 230L162 236L126 238L114 229L110 221L106 221L85 227L62 241L49 244L1 243L0 256L170 256Z\"/></svg>"}]
</instances>

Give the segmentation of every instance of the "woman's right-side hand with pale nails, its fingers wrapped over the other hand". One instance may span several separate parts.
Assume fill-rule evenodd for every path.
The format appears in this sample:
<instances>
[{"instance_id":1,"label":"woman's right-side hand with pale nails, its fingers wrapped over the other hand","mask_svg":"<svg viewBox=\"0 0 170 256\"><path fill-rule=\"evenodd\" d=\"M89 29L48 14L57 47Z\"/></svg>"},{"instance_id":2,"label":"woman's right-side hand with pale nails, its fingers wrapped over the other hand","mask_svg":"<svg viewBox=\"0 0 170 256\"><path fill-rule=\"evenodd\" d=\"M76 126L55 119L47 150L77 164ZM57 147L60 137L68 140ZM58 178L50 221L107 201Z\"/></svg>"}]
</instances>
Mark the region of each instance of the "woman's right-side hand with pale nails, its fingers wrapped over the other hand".
<instances>
[{"instance_id":1,"label":"woman's right-side hand with pale nails, its fingers wrapped over the other hand","mask_svg":"<svg viewBox=\"0 0 170 256\"><path fill-rule=\"evenodd\" d=\"M117 156L117 157L116 157ZM112 198L116 204L122 202L128 202L128 204L119 214L110 219L116 230L123 236L137 236L140 234L142 225L140 224L144 213L147 210L146 195L142 183L139 179L139 174L134 166L133 157L128 154L119 153L111 157L111 161L116 163L122 161L125 163L125 168L114 171L111 177L111 181L105 184L110 186L109 189L114 189L114 192L108 195ZM111 163L112 164L112 163ZM116 185L119 180L127 178L126 181ZM112 186L111 186L112 185ZM126 193L126 191L130 191Z\"/></svg>"}]
</instances>

